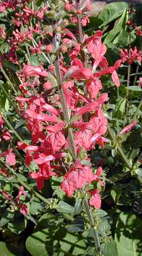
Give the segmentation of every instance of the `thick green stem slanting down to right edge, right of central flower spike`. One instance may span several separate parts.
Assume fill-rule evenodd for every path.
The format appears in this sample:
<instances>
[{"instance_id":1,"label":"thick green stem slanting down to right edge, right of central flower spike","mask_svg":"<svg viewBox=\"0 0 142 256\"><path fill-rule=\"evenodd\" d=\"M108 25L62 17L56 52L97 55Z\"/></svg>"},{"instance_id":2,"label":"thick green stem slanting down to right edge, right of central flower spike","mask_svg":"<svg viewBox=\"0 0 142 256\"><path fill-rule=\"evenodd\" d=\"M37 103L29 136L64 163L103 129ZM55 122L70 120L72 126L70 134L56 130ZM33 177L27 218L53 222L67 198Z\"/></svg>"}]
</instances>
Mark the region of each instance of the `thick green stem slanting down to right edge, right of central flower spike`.
<instances>
[{"instance_id":1,"label":"thick green stem slanting down to right edge, right of central flower spike","mask_svg":"<svg viewBox=\"0 0 142 256\"><path fill-rule=\"evenodd\" d=\"M115 138L115 136L113 134L112 129L109 126L107 126L107 130L108 130L108 134L109 134L109 136L111 138L111 141L114 142L115 145L117 145L118 143L116 141L116 138ZM120 157L123 159L123 162L131 170L132 169L132 165L131 165L130 161L128 161L128 158L126 157L126 155L124 154L122 147L117 146L117 149L118 149Z\"/></svg>"}]
</instances>

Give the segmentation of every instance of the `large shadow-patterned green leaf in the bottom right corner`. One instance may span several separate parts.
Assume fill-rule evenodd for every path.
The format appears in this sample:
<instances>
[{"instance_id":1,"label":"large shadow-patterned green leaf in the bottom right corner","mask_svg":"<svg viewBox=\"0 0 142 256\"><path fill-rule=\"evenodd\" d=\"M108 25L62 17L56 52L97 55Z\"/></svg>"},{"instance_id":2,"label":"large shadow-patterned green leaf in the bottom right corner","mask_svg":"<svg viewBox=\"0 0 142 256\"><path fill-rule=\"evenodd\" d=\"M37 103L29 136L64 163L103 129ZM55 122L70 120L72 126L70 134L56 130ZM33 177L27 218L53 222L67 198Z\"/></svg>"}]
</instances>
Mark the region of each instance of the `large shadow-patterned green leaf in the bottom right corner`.
<instances>
[{"instance_id":1,"label":"large shadow-patterned green leaf in the bottom right corner","mask_svg":"<svg viewBox=\"0 0 142 256\"><path fill-rule=\"evenodd\" d=\"M118 255L141 256L142 221L134 214L120 213L115 229Z\"/></svg>"}]
</instances>

